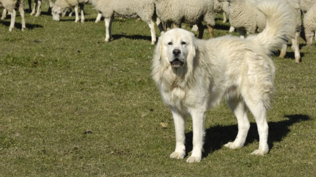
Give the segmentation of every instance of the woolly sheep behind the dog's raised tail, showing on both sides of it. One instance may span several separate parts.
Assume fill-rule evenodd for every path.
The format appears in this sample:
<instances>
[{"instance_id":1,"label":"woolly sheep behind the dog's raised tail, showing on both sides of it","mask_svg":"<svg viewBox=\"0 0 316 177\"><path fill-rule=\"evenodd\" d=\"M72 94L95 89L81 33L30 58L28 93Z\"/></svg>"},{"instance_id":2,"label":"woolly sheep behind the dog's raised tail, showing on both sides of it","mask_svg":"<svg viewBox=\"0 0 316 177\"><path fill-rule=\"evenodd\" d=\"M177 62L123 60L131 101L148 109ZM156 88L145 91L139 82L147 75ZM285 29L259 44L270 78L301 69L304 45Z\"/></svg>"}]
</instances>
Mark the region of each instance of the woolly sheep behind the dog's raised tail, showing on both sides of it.
<instances>
[{"instance_id":1,"label":"woolly sheep behind the dog's raised tail, showing on both sides of it","mask_svg":"<svg viewBox=\"0 0 316 177\"><path fill-rule=\"evenodd\" d=\"M245 38L247 34L261 32L265 27L266 19L264 15L253 4L256 1L247 0L218 0L219 2L229 2L229 22L235 27L241 38ZM284 1L284 5L289 7L292 13L293 26L289 29L288 38L292 39L292 47L295 53L295 62L299 63L301 55L299 51L299 37L301 30L301 7L299 0ZM287 45L282 46L280 58L283 58L286 53Z\"/></svg>"}]
</instances>

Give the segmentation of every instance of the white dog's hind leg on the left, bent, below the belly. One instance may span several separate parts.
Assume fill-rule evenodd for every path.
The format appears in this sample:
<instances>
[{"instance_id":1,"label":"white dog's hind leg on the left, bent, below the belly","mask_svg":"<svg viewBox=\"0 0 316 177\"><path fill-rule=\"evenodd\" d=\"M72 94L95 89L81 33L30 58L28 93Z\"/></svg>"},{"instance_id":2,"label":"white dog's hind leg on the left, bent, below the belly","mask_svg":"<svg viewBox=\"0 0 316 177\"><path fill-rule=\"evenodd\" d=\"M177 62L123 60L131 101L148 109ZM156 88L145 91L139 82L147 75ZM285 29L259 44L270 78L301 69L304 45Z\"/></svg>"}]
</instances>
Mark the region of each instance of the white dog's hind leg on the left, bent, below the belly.
<instances>
[{"instance_id":1,"label":"white dog's hind leg on the left, bent, below the belly","mask_svg":"<svg viewBox=\"0 0 316 177\"><path fill-rule=\"evenodd\" d=\"M248 109L241 99L230 99L227 101L229 108L234 112L238 121L238 134L234 142L229 142L224 146L230 149L236 149L244 146L250 123L248 120Z\"/></svg>"}]
</instances>

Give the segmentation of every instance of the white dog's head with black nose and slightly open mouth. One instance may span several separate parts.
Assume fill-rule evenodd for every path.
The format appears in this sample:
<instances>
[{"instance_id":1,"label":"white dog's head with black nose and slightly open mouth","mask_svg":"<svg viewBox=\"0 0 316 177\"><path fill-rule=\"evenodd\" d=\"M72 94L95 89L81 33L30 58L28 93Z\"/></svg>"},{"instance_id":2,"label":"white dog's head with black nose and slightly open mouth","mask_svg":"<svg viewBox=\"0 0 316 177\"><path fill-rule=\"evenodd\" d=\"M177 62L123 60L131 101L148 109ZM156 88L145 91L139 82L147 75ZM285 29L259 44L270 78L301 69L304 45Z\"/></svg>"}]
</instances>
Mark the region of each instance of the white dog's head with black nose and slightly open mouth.
<instances>
[{"instance_id":1,"label":"white dog's head with black nose and slightly open mouth","mask_svg":"<svg viewBox=\"0 0 316 177\"><path fill-rule=\"evenodd\" d=\"M197 49L194 34L184 29L172 29L158 40L154 60L160 60L166 67L179 68L195 57Z\"/></svg>"}]
</instances>

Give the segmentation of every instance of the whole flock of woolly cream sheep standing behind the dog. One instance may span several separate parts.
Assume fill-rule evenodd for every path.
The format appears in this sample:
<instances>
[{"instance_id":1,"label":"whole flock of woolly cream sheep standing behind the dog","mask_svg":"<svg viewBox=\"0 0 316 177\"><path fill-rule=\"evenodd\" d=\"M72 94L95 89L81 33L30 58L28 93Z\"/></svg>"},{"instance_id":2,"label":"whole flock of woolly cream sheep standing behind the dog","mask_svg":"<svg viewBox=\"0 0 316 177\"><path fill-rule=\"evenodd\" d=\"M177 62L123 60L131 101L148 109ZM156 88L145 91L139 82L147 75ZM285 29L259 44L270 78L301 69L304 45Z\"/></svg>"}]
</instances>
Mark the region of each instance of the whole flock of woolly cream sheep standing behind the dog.
<instances>
[{"instance_id":1,"label":"whole flock of woolly cream sheep standing behind the dog","mask_svg":"<svg viewBox=\"0 0 316 177\"><path fill-rule=\"evenodd\" d=\"M302 32L307 45L312 44L313 36L316 31L316 0L283 0L288 3L293 12L292 32L288 34L288 39L292 41L292 48L295 52L295 62L300 62L299 37ZM73 8L76 14L75 22L79 21L78 7L81 10L81 22L84 22L84 4L93 4L98 11L98 17L95 22L105 18L106 37L108 42L111 38L111 25L114 15L125 18L140 18L145 21L150 28L151 44L156 43L155 22L161 32L164 32L163 23L167 30L173 27L181 26L181 23L188 23L197 26L199 31L198 38L203 37L204 26L206 23L210 36L214 37L213 29L215 26L215 13L222 13L224 21L226 15L229 15L231 24L230 31L236 29L241 38L246 34L261 32L265 26L265 17L254 8L256 0L49 0L53 20L59 21L68 9ZM12 31L15 23L16 12L18 8L22 19L22 31L24 31L24 0L0 0L0 7L3 7L2 20L6 16L6 10L11 14L11 24L9 31ZM29 9L31 9L31 0L28 0ZM40 15L41 0L34 0L34 6L31 15ZM301 14L304 14L303 20ZM301 31L302 30L302 31ZM280 57L285 56L287 45L281 49Z\"/></svg>"}]
</instances>

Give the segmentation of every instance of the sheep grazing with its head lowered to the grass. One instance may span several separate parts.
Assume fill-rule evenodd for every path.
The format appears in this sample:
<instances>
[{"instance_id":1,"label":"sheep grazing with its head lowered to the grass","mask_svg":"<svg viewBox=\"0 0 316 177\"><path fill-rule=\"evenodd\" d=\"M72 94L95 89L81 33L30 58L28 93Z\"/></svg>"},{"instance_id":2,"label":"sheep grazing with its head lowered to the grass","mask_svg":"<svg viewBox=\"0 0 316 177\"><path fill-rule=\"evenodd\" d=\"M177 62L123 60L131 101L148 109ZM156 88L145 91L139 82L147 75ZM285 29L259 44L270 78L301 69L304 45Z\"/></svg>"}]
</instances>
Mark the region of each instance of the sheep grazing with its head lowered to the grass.
<instances>
[{"instance_id":1,"label":"sheep grazing with its head lowered to the grass","mask_svg":"<svg viewBox=\"0 0 316 177\"><path fill-rule=\"evenodd\" d=\"M84 23L84 13L83 8L84 4L88 3L89 0L57 0L52 8L52 15L54 21L59 21L59 18L62 14L64 14L65 10L69 7L74 7L76 20L75 22L79 21L79 14L78 14L78 6L80 7L81 13L81 23Z\"/></svg>"}]
</instances>

